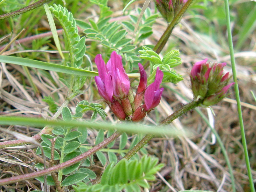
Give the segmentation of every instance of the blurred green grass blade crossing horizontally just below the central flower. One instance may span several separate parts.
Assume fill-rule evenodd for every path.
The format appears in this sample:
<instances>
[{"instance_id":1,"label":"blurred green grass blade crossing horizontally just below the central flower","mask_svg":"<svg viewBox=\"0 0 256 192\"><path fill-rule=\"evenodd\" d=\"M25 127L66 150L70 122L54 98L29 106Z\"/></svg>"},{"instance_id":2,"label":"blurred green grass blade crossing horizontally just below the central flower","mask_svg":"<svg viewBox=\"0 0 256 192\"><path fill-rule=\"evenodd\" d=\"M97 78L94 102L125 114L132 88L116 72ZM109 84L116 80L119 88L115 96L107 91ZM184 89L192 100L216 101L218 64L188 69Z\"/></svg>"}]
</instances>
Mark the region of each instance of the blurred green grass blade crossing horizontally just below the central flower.
<instances>
[{"instance_id":1,"label":"blurred green grass blade crossing horizontally just below the central flower","mask_svg":"<svg viewBox=\"0 0 256 192\"><path fill-rule=\"evenodd\" d=\"M1 125L28 125L36 127L48 126L63 126L63 127L91 127L95 129L104 130L117 130L120 132L130 133L149 133L154 135L161 135L165 133L169 136L184 135L184 132L172 129L170 126L144 126L142 124L134 123L123 123L123 124L112 124L108 122L78 122L78 121L56 121L56 120L45 120L42 118L31 118L31 117L18 117L18 116L0 116Z\"/></svg>"}]
</instances>

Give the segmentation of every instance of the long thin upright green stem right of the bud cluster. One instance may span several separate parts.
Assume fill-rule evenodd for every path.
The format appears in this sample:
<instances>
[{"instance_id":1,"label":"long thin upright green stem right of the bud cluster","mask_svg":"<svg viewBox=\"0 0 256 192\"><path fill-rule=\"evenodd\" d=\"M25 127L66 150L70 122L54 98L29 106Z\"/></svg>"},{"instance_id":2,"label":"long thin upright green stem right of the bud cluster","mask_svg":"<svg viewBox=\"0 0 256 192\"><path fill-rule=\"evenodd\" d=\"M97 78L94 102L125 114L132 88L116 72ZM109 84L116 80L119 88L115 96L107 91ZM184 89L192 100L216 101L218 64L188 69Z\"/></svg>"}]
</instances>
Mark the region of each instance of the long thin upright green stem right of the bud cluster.
<instances>
[{"instance_id":1,"label":"long thin upright green stem right of the bud cluster","mask_svg":"<svg viewBox=\"0 0 256 192\"><path fill-rule=\"evenodd\" d=\"M243 144L243 148L244 148L244 158L245 158L245 163L246 163L246 167L247 167L251 192L255 192L253 178L252 178L252 172L251 172L251 166L250 166L250 159L249 159L248 149L247 149L247 145L246 145L244 122L243 122L242 109L241 109L240 96L239 96L239 89L238 89L238 83L237 83L237 77L236 77L236 63L235 63L235 57L234 57L234 47L233 47L233 42L232 42L232 32L231 32L231 27L230 27L230 14L229 14L228 0L225 0L224 2L225 2L225 11L226 11L226 21L227 21L227 32L228 32L228 44L229 44L229 51L230 51L230 60L231 60L231 65L232 65L233 79L234 79L234 82L235 82L236 103L237 103L237 111L238 111L238 117L239 117L239 123L240 123L242 144ZM236 191L236 189L233 188L233 191Z\"/></svg>"}]
</instances>

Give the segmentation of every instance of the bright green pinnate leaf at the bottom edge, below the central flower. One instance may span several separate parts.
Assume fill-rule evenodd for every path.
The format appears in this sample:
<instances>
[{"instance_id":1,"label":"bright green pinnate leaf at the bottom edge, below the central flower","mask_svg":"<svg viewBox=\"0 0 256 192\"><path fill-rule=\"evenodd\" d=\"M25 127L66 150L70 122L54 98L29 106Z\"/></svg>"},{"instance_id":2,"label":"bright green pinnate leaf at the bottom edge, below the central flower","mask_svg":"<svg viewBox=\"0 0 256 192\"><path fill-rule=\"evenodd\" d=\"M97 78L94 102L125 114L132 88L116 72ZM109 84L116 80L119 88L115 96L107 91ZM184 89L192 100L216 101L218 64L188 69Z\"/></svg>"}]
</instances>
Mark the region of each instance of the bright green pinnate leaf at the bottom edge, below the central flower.
<instances>
[{"instance_id":1,"label":"bright green pinnate leaf at the bottom edge, below the central flower","mask_svg":"<svg viewBox=\"0 0 256 192\"><path fill-rule=\"evenodd\" d=\"M77 182L73 188L77 192L138 191L140 187L148 188L146 180L155 180L154 175L164 166L157 162L158 159L150 156L143 156L139 161L122 159L115 166L114 163L107 166L99 184L88 186L84 182Z\"/></svg>"}]
</instances>

